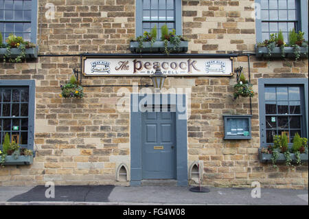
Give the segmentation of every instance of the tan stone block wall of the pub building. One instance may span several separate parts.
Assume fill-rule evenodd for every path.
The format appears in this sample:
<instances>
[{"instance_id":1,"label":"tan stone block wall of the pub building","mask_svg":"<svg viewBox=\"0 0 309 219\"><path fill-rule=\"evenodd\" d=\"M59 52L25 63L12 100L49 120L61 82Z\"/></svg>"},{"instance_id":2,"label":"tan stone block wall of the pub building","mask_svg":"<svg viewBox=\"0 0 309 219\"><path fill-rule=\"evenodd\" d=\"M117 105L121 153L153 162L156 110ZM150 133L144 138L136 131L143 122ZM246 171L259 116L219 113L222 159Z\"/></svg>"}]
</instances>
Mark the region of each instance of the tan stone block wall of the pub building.
<instances>
[{"instance_id":1,"label":"tan stone block wall of the pub building","mask_svg":"<svg viewBox=\"0 0 309 219\"><path fill-rule=\"evenodd\" d=\"M47 3L54 5L52 19L45 16L50 10L45 7ZM300 78L308 82L308 58L295 62L254 55L256 35L260 32L255 28L254 3L181 1L182 34L190 40L187 54L243 54L234 58L233 65L243 67L247 78L250 71L256 93L251 104L249 98L234 100L236 75L173 76L165 80L166 89L190 88L192 92L191 104L187 106L191 109L186 143L188 185L196 184L190 179L190 168L195 162L199 164L202 185L249 187L259 181L262 187L308 187L306 163L274 168L261 163L258 157L259 79ZM84 87L82 99L65 99L59 94L60 85L69 80L72 69L80 67L80 54L130 54L130 38L136 37L136 8L135 0L37 1L38 58L18 64L3 63L0 68L0 86L5 86L5 80L35 80L36 156L32 165L1 168L1 186L45 185L47 181L56 185L130 185L130 142L135 127L131 126L130 112L117 110L122 98L117 91L123 87ZM82 77L83 85L134 82L152 84L149 77ZM306 111L308 116L308 108ZM251 112L251 139L223 139L222 115ZM126 178L119 176L121 170Z\"/></svg>"}]
</instances>

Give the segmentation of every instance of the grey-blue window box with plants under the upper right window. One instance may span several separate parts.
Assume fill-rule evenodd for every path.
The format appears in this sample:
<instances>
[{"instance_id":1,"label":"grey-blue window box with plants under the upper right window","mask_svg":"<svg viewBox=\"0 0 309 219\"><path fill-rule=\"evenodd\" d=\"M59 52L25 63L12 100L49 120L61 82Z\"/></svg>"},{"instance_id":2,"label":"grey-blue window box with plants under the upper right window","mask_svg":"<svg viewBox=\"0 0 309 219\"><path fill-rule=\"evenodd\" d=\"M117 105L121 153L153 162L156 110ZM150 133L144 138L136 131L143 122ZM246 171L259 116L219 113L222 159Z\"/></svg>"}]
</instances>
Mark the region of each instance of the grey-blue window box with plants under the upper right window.
<instances>
[{"instance_id":1,"label":"grey-blue window box with plants under the upper right window","mask_svg":"<svg viewBox=\"0 0 309 219\"><path fill-rule=\"evenodd\" d=\"M308 58L308 41L304 39L304 32L295 32L291 30L288 34L289 42L284 42L284 36L281 31L279 34L271 34L269 40L258 43L255 46L255 54L257 57L266 58Z\"/></svg>"}]
</instances>

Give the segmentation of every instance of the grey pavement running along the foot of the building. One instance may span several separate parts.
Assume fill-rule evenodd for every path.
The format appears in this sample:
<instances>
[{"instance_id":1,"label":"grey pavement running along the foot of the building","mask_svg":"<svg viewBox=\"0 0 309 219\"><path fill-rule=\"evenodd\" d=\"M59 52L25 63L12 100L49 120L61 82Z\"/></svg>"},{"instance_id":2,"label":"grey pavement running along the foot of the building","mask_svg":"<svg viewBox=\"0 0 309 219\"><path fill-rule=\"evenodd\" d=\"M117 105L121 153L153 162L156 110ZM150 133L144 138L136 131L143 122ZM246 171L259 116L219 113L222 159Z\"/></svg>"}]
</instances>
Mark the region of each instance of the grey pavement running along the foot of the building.
<instances>
[{"instance_id":1,"label":"grey pavement running along the foot of the building","mask_svg":"<svg viewBox=\"0 0 309 219\"><path fill-rule=\"evenodd\" d=\"M308 205L308 189L207 187L209 192L190 192L192 187L114 185L66 185L54 187L0 187L0 205ZM49 189L49 190L47 190Z\"/></svg>"}]
</instances>

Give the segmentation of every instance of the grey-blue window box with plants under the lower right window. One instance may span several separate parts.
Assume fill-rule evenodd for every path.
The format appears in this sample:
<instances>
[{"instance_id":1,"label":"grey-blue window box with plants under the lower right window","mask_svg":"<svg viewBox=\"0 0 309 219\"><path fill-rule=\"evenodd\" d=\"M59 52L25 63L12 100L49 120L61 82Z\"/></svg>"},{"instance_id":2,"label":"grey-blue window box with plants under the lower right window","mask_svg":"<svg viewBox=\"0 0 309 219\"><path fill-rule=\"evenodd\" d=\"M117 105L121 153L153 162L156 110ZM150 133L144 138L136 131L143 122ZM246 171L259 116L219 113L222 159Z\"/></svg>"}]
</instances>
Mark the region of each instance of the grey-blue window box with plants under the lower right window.
<instances>
[{"instance_id":1,"label":"grey-blue window box with plants under the lower right window","mask_svg":"<svg viewBox=\"0 0 309 219\"><path fill-rule=\"evenodd\" d=\"M259 149L259 158L262 163L291 163L301 164L308 162L308 139L299 137L298 133L293 138L293 146L288 147L288 137L274 135L273 144L267 148Z\"/></svg>"}]
</instances>

